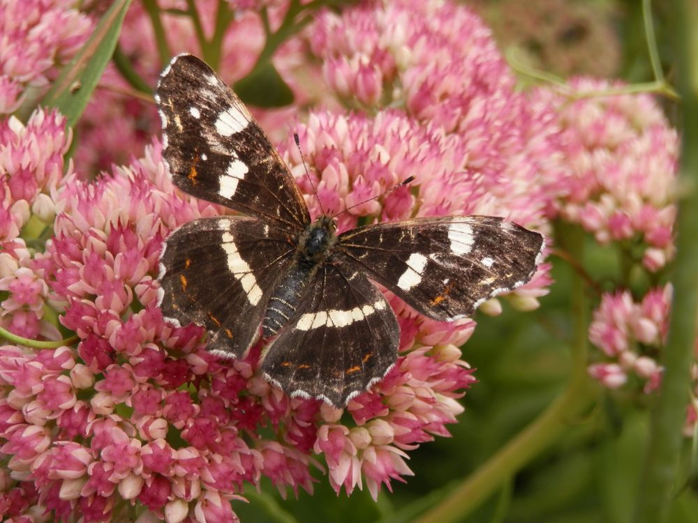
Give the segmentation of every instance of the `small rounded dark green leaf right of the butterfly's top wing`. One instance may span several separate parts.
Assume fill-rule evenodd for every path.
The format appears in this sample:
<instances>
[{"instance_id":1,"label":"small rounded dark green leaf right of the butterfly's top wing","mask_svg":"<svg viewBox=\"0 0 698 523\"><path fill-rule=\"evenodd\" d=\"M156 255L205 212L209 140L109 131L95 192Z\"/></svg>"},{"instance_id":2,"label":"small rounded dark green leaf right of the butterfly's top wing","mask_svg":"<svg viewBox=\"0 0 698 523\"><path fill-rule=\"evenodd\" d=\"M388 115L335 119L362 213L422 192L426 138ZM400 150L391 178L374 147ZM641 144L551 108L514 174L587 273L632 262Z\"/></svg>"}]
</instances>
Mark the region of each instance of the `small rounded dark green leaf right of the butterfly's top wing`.
<instances>
[{"instance_id":1,"label":"small rounded dark green leaf right of the butterfly's top wing","mask_svg":"<svg viewBox=\"0 0 698 523\"><path fill-rule=\"evenodd\" d=\"M293 92L271 61L258 63L252 72L233 86L244 103L257 107L283 107L293 102Z\"/></svg>"}]
</instances>

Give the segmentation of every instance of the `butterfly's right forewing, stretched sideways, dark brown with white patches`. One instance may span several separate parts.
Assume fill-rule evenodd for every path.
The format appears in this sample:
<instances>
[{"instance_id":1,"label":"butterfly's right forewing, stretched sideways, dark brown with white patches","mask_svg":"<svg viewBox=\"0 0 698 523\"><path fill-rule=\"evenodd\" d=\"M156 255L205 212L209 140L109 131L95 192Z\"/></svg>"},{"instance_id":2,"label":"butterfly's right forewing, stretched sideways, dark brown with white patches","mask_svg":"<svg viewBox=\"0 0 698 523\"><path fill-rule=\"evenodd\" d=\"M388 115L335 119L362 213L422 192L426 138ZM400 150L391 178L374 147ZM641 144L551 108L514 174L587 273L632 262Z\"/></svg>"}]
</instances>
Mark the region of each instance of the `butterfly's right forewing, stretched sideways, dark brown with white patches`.
<instances>
[{"instance_id":1,"label":"butterfly's right forewing, stretched sideways, dark brown with white patches","mask_svg":"<svg viewBox=\"0 0 698 523\"><path fill-rule=\"evenodd\" d=\"M533 278L543 236L493 216L417 218L339 236L337 256L441 321Z\"/></svg>"}]
</instances>

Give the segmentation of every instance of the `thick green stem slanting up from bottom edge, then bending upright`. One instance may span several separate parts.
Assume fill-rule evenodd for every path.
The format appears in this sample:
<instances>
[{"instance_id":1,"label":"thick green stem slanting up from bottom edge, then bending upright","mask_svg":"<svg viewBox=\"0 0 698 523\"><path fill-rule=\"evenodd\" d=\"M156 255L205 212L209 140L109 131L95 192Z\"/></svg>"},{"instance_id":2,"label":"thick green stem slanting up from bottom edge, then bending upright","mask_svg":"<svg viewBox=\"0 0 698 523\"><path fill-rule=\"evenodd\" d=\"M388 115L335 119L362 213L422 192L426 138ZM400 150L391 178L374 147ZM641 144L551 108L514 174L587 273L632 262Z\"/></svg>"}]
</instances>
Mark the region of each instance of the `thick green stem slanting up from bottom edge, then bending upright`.
<instances>
[{"instance_id":1,"label":"thick green stem slanting up from bottom edge, then bending upright","mask_svg":"<svg viewBox=\"0 0 698 523\"><path fill-rule=\"evenodd\" d=\"M580 260L584 232L579 227L565 229L566 245L574 259ZM418 523L448 523L463 520L487 500L496 490L543 450L549 448L569 430L588 408L597 400L599 388L588 377L587 336L588 303L586 283L580 275L572 277L572 372L570 382L560 395L528 427L519 432L507 445L475 473L463 480L436 506L419 517Z\"/></svg>"}]
</instances>

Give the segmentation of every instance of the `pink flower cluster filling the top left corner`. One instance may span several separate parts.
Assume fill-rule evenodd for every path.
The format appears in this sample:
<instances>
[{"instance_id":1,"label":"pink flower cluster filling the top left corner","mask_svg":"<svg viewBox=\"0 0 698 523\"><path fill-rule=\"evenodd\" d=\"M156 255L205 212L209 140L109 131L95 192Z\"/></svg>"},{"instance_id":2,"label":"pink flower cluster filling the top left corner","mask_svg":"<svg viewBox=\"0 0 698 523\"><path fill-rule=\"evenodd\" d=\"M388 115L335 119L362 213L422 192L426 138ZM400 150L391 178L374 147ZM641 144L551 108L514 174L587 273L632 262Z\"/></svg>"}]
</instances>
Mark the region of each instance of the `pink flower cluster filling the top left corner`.
<instances>
[{"instance_id":1,"label":"pink flower cluster filling the top left corner","mask_svg":"<svg viewBox=\"0 0 698 523\"><path fill-rule=\"evenodd\" d=\"M0 3L0 114L15 112L29 90L45 89L57 66L70 61L80 50L92 24L77 10L79 3L75 0Z\"/></svg>"}]
</instances>

